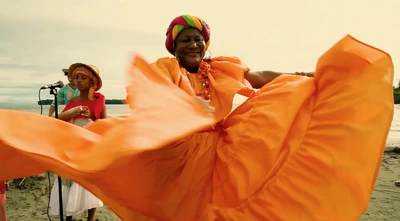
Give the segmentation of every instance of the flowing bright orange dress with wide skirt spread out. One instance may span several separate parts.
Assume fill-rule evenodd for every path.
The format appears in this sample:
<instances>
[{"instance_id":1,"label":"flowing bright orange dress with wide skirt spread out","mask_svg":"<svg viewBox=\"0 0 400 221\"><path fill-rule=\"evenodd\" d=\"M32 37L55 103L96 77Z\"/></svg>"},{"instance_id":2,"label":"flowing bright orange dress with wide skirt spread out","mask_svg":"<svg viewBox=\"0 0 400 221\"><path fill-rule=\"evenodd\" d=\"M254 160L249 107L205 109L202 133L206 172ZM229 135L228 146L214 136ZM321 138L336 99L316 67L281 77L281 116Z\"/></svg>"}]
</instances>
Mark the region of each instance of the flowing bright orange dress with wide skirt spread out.
<instances>
[{"instance_id":1,"label":"flowing bright orange dress with wide skirt spread out","mask_svg":"<svg viewBox=\"0 0 400 221\"><path fill-rule=\"evenodd\" d=\"M214 62L215 116L177 63L138 55L126 119L78 128L1 110L0 180L52 171L123 220L357 220L393 117L390 56L346 36L320 57L315 78L281 76L257 92L244 66ZM237 91L250 97L229 114Z\"/></svg>"}]
</instances>

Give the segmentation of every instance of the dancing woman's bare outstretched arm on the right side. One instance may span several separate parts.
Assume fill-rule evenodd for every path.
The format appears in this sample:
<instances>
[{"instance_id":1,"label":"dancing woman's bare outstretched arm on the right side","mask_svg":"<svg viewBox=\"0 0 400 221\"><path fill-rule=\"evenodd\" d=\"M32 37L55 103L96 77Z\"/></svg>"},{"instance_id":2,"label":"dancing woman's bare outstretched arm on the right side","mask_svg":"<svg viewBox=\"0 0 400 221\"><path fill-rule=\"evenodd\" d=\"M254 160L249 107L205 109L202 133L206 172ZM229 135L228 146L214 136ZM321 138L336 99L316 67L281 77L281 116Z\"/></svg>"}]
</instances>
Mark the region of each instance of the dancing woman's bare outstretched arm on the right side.
<instances>
[{"instance_id":1,"label":"dancing woman's bare outstretched arm on the right side","mask_svg":"<svg viewBox=\"0 0 400 221\"><path fill-rule=\"evenodd\" d=\"M262 88L264 85L268 84L278 76L283 74L290 74L290 75L303 75L308 77L313 77L314 72L295 72L295 73L280 73L274 71L255 71L255 72L248 72L245 74L246 80L253 86L253 88Z\"/></svg>"}]
</instances>

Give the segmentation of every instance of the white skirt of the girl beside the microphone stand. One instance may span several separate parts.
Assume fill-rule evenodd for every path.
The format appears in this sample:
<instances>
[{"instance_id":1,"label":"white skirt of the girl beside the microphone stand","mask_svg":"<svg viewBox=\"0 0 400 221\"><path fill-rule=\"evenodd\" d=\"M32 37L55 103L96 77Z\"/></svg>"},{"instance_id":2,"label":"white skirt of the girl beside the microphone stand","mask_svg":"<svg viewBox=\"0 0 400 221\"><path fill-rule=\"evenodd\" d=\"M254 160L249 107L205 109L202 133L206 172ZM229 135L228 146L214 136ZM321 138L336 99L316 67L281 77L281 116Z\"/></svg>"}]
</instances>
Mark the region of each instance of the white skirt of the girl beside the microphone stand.
<instances>
[{"instance_id":1,"label":"white skirt of the girl beside the microphone stand","mask_svg":"<svg viewBox=\"0 0 400 221\"><path fill-rule=\"evenodd\" d=\"M56 179L50 195L49 213L51 215L60 215L58 199L58 179ZM62 186L62 200L64 216L74 216L85 210L103 206L101 200L75 182L71 187Z\"/></svg>"}]
</instances>

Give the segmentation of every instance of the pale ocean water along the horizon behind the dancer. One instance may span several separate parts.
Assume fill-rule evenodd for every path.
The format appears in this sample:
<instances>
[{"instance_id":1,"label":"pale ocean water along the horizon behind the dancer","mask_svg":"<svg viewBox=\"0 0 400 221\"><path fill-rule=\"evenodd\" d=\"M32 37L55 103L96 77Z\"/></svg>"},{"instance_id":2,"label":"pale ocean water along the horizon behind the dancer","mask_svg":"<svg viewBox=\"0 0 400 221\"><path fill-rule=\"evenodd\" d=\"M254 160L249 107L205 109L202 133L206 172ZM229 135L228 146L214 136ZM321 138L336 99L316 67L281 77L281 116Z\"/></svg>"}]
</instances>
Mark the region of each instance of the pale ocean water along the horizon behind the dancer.
<instances>
[{"instance_id":1,"label":"pale ocean water along the horizon behind the dancer","mask_svg":"<svg viewBox=\"0 0 400 221\"><path fill-rule=\"evenodd\" d=\"M240 105L243 101L245 100L244 97L242 96L237 96L235 97L233 107L237 107ZM43 111L42 114L46 115L49 112L49 105L44 105L43 106ZM59 112L64 108L65 106L61 105L59 106ZM26 112L31 112L31 113L36 113L40 114L41 113L41 108L40 105L37 105L35 103L0 103L0 109L11 109L11 110L20 110L20 111L26 111ZM117 105L107 105L107 114L108 116L123 116L127 115L129 111L129 107L126 104L117 104ZM386 146L388 147L395 147L399 146L400 147L400 104L396 104L394 108L394 116L393 116L393 121L391 124L390 132L386 141Z\"/></svg>"}]
</instances>

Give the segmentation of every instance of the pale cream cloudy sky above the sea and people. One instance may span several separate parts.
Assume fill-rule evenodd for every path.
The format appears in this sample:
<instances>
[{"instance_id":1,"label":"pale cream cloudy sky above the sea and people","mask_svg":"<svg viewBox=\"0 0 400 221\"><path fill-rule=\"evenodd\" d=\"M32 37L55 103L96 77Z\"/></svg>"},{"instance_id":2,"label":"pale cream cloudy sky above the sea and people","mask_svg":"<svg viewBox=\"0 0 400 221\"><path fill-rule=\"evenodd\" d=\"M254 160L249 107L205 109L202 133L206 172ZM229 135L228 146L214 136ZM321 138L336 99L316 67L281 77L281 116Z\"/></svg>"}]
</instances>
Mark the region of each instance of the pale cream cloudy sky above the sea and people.
<instances>
[{"instance_id":1,"label":"pale cream cloudy sky above the sea and people","mask_svg":"<svg viewBox=\"0 0 400 221\"><path fill-rule=\"evenodd\" d=\"M169 56L165 31L177 15L204 18L213 56L234 55L253 70L312 71L351 34L400 64L399 0L0 0L0 102L34 102L74 62L95 64L108 98L124 98L133 51ZM223 13L223 14L222 14ZM396 73L395 79L400 79ZM51 98L47 91L43 98Z\"/></svg>"}]
</instances>

